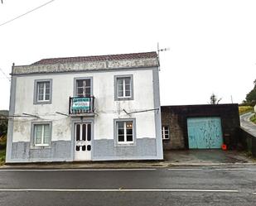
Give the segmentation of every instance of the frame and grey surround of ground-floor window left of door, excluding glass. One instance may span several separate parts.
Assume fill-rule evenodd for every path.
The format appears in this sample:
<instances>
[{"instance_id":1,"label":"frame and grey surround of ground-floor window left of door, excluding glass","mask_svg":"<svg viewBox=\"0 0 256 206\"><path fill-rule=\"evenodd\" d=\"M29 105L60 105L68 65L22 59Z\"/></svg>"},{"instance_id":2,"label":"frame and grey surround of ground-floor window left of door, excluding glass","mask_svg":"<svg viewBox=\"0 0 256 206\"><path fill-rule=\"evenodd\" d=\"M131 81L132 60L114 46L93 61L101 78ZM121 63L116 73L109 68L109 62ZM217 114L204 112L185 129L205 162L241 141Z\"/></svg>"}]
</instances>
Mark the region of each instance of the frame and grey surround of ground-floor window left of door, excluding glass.
<instances>
[{"instance_id":1,"label":"frame and grey surround of ground-floor window left of door, excluding glass","mask_svg":"<svg viewBox=\"0 0 256 206\"><path fill-rule=\"evenodd\" d=\"M49 126L49 133L50 133L49 134L49 136L50 136L49 144L44 143L44 140L45 140L44 134L45 134L45 126L46 125ZM43 126L42 132L41 132L41 143L40 144L36 144L36 126ZM32 122L31 127L32 127L31 141L32 141L32 145L34 147L42 147L42 146L49 147L49 146L51 146L51 122Z\"/></svg>"}]
</instances>

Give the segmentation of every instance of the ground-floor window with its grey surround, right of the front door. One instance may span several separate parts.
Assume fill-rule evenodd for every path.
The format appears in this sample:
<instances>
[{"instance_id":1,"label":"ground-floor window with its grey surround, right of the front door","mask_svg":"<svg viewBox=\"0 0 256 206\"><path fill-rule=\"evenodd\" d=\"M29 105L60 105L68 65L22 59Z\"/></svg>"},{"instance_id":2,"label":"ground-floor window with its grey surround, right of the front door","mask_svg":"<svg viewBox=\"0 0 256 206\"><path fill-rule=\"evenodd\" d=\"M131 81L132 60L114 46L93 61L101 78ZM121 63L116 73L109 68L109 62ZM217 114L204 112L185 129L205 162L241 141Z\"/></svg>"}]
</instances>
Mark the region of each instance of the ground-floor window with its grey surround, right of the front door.
<instances>
[{"instance_id":1,"label":"ground-floor window with its grey surround, right of the front door","mask_svg":"<svg viewBox=\"0 0 256 206\"><path fill-rule=\"evenodd\" d=\"M134 143L134 119L118 119L115 120L115 136L119 145Z\"/></svg>"}]
</instances>

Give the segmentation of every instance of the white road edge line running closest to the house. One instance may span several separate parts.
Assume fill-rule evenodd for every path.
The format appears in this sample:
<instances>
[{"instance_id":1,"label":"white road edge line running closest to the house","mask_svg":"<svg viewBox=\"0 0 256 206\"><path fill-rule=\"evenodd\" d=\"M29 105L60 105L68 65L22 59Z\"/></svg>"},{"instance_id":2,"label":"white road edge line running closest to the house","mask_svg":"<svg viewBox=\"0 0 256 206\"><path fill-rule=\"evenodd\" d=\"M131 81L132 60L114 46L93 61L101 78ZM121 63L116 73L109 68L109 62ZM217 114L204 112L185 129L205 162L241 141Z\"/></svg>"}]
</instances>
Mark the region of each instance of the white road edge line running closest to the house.
<instances>
[{"instance_id":1,"label":"white road edge line running closest to the house","mask_svg":"<svg viewBox=\"0 0 256 206\"><path fill-rule=\"evenodd\" d=\"M6 172L6 171L22 171L22 172L33 172L33 171L151 171L151 170L157 170L155 168L146 168L146 169L141 169L141 168L134 168L134 169L130 169L130 168L127 168L127 169L25 169L25 170L22 170L22 169L13 169L13 170L10 170L10 169L2 169L0 170L0 172Z\"/></svg>"}]
</instances>

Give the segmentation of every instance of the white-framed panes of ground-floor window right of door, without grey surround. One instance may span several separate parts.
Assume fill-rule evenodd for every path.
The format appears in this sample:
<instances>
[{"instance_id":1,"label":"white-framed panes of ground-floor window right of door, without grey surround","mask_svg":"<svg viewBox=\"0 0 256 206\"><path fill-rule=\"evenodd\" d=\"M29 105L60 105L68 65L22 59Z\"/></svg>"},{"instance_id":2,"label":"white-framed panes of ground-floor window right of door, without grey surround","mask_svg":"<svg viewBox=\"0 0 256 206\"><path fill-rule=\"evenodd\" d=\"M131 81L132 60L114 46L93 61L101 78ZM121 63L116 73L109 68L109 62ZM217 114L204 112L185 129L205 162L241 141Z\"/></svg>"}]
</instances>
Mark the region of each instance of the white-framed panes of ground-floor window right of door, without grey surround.
<instances>
[{"instance_id":1,"label":"white-framed panes of ground-floor window right of door, without grey surround","mask_svg":"<svg viewBox=\"0 0 256 206\"><path fill-rule=\"evenodd\" d=\"M133 121L116 122L118 144L133 143Z\"/></svg>"}]
</instances>

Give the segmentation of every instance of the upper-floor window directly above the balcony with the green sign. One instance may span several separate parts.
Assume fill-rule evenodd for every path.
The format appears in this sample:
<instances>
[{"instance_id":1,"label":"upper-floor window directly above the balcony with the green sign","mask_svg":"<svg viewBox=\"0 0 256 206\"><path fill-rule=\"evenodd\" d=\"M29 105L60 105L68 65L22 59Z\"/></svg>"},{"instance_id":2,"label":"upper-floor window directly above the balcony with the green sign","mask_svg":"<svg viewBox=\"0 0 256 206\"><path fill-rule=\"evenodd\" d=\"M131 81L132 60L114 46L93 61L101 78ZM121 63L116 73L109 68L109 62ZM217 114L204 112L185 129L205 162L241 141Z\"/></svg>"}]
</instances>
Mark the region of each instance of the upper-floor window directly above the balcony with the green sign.
<instances>
[{"instance_id":1,"label":"upper-floor window directly above the balcony with the green sign","mask_svg":"<svg viewBox=\"0 0 256 206\"><path fill-rule=\"evenodd\" d=\"M75 79L75 97L90 97L91 87L91 79Z\"/></svg>"}]
</instances>

